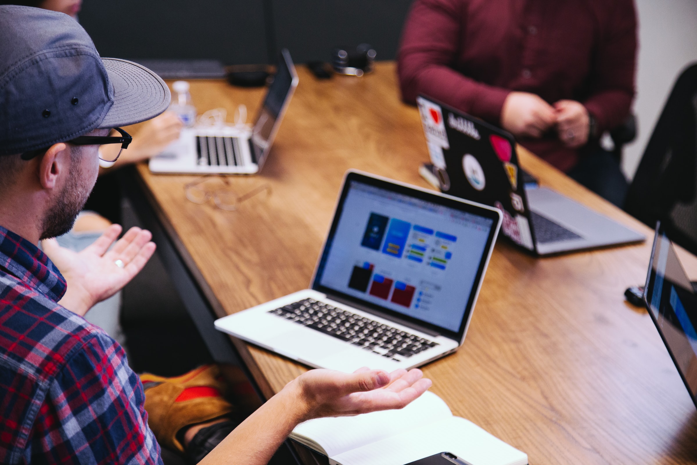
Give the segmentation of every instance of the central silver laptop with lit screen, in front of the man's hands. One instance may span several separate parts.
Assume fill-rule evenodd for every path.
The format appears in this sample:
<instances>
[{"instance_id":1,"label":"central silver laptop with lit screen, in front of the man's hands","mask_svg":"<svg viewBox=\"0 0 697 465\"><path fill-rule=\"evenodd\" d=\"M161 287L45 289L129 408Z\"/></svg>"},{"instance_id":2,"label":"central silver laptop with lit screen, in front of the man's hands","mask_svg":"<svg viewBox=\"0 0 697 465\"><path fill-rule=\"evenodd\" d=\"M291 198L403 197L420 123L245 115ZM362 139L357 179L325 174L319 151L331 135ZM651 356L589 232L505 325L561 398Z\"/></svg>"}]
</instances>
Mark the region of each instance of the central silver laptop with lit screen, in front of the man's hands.
<instances>
[{"instance_id":1,"label":"central silver laptop with lit screen, in front of the man's hands","mask_svg":"<svg viewBox=\"0 0 697 465\"><path fill-rule=\"evenodd\" d=\"M348 171L312 289L215 327L312 367L423 365L464 342L500 222L496 208Z\"/></svg>"}]
</instances>

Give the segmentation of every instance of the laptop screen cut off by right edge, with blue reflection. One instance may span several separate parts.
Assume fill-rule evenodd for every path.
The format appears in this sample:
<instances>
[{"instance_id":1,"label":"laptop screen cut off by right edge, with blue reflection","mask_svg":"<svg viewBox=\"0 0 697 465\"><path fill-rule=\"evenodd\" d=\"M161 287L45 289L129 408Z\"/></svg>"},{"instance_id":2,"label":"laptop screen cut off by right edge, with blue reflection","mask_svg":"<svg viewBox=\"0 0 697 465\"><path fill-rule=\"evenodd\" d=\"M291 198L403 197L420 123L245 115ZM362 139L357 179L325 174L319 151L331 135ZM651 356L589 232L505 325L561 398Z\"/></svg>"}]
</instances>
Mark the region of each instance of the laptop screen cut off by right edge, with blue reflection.
<instances>
[{"instance_id":1,"label":"laptop screen cut off by right edge, with blue reflection","mask_svg":"<svg viewBox=\"0 0 697 465\"><path fill-rule=\"evenodd\" d=\"M690 282L673 243L656 226L644 300L682 381L697 406L697 283Z\"/></svg>"}]
</instances>

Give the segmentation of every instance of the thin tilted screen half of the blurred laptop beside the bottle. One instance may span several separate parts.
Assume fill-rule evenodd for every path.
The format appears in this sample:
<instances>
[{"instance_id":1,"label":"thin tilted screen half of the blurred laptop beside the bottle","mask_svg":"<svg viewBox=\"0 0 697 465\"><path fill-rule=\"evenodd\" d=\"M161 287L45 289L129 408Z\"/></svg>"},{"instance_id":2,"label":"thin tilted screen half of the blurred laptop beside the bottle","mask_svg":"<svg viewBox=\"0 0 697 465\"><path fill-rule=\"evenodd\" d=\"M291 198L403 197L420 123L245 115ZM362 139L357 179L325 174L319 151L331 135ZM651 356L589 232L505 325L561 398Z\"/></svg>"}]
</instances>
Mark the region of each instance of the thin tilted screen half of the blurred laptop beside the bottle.
<instances>
[{"instance_id":1,"label":"thin tilted screen half of the blurred laptop beside the bottle","mask_svg":"<svg viewBox=\"0 0 697 465\"><path fill-rule=\"evenodd\" d=\"M298 74L293 66L291 54L288 49L282 49L273 84L268 88L259 116L256 117L256 123L252 128L250 139L252 161L259 166L259 171L266 162L273 139L276 137L283 115L297 86Z\"/></svg>"}]
</instances>

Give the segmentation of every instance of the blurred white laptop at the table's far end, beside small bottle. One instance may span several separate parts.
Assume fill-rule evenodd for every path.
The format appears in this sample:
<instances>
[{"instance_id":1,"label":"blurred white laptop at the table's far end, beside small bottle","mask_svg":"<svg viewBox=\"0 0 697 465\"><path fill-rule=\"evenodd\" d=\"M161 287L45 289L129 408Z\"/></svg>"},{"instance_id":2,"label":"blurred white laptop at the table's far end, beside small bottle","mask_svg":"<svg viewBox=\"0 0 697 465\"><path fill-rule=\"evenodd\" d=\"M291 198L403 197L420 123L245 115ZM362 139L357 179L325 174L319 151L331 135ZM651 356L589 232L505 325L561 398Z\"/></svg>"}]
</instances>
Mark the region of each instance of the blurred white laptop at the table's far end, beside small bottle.
<instances>
[{"instance_id":1,"label":"blurred white laptop at the table's far end, beside small bottle","mask_svg":"<svg viewBox=\"0 0 697 465\"><path fill-rule=\"evenodd\" d=\"M252 129L194 127L150 159L153 173L254 174L261 171L281 120L298 86L291 54L283 49L276 75Z\"/></svg>"}]
</instances>

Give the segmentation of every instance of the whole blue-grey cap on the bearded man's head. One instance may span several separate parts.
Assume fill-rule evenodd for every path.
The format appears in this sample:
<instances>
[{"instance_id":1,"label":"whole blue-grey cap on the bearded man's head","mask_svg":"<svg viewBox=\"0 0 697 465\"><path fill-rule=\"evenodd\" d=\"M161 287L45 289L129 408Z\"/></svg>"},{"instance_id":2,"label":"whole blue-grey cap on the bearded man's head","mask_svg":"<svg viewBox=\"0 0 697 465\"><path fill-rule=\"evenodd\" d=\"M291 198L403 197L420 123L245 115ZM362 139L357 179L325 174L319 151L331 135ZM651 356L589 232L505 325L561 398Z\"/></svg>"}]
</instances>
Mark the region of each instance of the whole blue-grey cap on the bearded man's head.
<instances>
[{"instance_id":1,"label":"whole blue-grey cap on the bearded man's head","mask_svg":"<svg viewBox=\"0 0 697 465\"><path fill-rule=\"evenodd\" d=\"M0 155L146 121L169 100L151 70L102 59L70 16L0 6Z\"/></svg>"}]
</instances>

